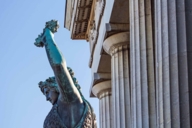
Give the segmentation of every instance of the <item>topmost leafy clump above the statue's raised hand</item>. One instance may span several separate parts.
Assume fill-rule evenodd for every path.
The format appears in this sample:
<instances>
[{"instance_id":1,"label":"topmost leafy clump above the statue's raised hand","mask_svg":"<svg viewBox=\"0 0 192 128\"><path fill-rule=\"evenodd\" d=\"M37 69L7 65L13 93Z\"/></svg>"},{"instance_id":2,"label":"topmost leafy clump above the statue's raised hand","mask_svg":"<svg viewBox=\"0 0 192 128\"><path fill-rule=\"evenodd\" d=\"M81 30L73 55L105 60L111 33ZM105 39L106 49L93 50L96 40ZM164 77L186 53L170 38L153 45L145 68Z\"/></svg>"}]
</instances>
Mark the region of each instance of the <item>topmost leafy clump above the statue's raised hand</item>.
<instances>
[{"instance_id":1,"label":"topmost leafy clump above the statue's raised hand","mask_svg":"<svg viewBox=\"0 0 192 128\"><path fill-rule=\"evenodd\" d=\"M59 22L57 20L48 21L45 24L45 28L48 28L51 30L52 33L55 33L59 28Z\"/></svg>"}]
</instances>

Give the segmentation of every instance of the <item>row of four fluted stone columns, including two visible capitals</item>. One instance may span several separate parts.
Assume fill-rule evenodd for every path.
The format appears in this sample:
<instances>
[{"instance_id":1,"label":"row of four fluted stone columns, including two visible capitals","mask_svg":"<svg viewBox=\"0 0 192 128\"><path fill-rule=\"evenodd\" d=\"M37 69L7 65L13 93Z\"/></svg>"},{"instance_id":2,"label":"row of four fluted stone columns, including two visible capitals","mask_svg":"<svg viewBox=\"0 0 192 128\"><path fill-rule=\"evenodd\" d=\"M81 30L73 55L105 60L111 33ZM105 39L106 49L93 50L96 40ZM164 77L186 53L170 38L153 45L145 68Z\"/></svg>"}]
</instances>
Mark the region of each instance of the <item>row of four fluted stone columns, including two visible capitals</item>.
<instances>
[{"instance_id":1,"label":"row of four fluted stone columns, including two visible capitals","mask_svg":"<svg viewBox=\"0 0 192 128\"><path fill-rule=\"evenodd\" d=\"M111 81L92 88L100 128L192 127L192 1L129 1L129 32L103 42Z\"/></svg>"}]
</instances>

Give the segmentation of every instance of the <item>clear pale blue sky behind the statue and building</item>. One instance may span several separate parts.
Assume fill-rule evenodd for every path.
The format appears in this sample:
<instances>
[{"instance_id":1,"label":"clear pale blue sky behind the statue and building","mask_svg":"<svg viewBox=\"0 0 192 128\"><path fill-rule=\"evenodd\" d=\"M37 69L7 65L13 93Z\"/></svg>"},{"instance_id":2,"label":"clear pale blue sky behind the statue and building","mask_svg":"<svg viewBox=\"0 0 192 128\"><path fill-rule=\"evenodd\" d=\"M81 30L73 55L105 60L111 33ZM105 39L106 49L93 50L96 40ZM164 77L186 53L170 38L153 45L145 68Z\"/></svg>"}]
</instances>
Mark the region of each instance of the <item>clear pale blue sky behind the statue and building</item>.
<instances>
[{"instance_id":1,"label":"clear pale blue sky behind the statue and building","mask_svg":"<svg viewBox=\"0 0 192 128\"><path fill-rule=\"evenodd\" d=\"M89 43L71 40L64 26L65 0L0 0L0 128L42 128L52 105L38 82L53 76L44 48L34 46L45 22L56 19L55 41L75 72L99 122L98 99L89 98Z\"/></svg>"}]
</instances>

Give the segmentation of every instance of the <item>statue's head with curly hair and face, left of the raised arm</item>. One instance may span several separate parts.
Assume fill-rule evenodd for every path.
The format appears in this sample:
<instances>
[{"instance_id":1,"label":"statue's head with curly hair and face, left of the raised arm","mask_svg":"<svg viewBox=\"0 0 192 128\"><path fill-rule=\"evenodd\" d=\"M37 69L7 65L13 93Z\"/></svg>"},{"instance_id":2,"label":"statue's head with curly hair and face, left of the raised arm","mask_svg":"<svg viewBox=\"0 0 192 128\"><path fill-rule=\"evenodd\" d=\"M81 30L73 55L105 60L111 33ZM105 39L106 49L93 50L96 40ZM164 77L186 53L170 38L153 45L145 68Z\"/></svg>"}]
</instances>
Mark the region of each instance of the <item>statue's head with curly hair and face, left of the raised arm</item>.
<instances>
[{"instance_id":1,"label":"statue's head with curly hair and face, left of the raised arm","mask_svg":"<svg viewBox=\"0 0 192 128\"><path fill-rule=\"evenodd\" d=\"M39 88L45 95L46 99L53 105L57 102L59 96L58 84L56 83L55 77L49 77L44 82L39 82Z\"/></svg>"}]
</instances>

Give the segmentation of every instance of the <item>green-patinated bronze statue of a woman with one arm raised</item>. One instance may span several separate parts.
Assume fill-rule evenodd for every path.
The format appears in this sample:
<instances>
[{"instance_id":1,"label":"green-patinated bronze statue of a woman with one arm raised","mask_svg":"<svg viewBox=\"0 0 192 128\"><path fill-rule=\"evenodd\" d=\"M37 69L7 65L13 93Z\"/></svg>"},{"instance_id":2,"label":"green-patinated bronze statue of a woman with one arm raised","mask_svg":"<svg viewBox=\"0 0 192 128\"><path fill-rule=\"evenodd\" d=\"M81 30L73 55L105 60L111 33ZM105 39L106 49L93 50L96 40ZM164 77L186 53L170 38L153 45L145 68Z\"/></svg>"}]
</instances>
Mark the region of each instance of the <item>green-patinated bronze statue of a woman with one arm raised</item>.
<instances>
[{"instance_id":1,"label":"green-patinated bronze statue of a woman with one arm raised","mask_svg":"<svg viewBox=\"0 0 192 128\"><path fill-rule=\"evenodd\" d=\"M54 33L59 28L58 21L46 22L43 33L34 43L45 47L54 77L39 82L46 99L53 105L44 121L44 128L96 128L96 118L89 102L83 97L71 68L54 41Z\"/></svg>"}]
</instances>

